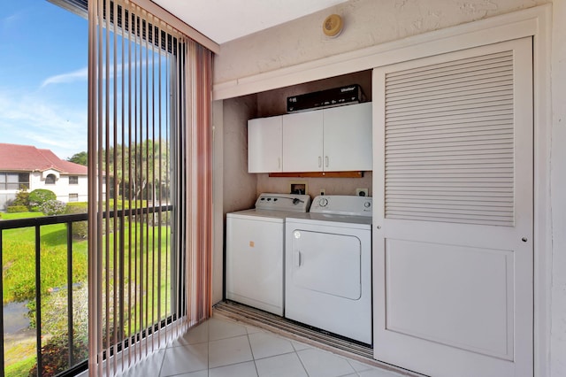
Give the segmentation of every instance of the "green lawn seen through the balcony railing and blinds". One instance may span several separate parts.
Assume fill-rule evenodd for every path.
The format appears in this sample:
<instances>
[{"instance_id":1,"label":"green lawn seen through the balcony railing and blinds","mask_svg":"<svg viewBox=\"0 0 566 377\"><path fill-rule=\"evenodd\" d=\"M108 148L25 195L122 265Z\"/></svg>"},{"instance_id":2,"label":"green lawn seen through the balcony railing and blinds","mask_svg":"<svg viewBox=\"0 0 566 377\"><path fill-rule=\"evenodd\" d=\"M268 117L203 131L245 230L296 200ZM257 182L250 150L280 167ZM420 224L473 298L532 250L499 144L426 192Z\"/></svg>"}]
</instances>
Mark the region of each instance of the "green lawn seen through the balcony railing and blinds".
<instances>
[{"instance_id":1,"label":"green lawn seen through the balcony railing and blinds","mask_svg":"<svg viewBox=\"0 0 566 377\"><path fill-rule=\"evenodd\" d=\"M3 213L2 219L21 219L42 216L38 212L25 213ZM102 255L103 273L108 274L111 281L109 289L112 291L114 286L114 276L119 280L119 284L124 284L127 290L138 292L138 302L142 301L149 308L148 318L140 318L134 312L139 310L139 306L131 308L130 319L126 321L126 328L122 331L126 335L132 335L142 327L148 327L153 320L160 318L157 315L157 305L162 307L160 317L164 317L164 308L168 306L170 298L169 276L171 266L171 229L170 227L147 227L136 224L132 227L132 235L127 230L123 234L113 234L103 237L103 244L111 246L117 245L116 254L113 252ZM149 230L149 232L148 232ZM4 303L12 301L34 300L35 297L35 230L34 227L4 230L3 233L3 280L4 280ZM161 240L158 235L161 234ZM143 235L143 236L142 236ZM56 302L54 292L60 296L66 295L66 265L67 265L67 246L66 246L66 226L65 224L50 225L41 228L41 291L42 291L42 318L43 330L65 327L66 322L61 325L60 321L66 320L66 306L62 308L45 307L53 306ZM161 242L159 244L159 241ZM118 247L123 242L124 252ZM142 247L143 245L143 247ZM161 265L159 265L161 261ZM118 271L124 271L125 275L120 276ZM117 273L115 275L115 273ZM153 279L157 274L162 275L162 279L167 281L157 287L157 279ZM73 282L86 287L88 279L88 241L73 241ZM149 292L149 293L148 293ZM152 293L156 292L156 293ZM157 292L160 295L157 295ZM142 296L147 295L147 296ZM84 296L84 295L83 295ZM143 298L141 298L143 297ZM78 298L78 297L77 297ZM58 300L63 302L65 300ZM86 303L82 304L85 308ZM33 305L32 305L33 306ZM59 313L57 315L57 312ZM49 313L49 315L47 315ZM55 313L51 315L51 313ZM88 318L83 309L83 319ZM62 319L54 317L61 316ZM127 317L127 316L126 316ZM77 320L75 316L75 320ZM127 318L126 318L127 319ZM112 320L112 319L111 319ZM112 322L111 322L112 323ZM85 323L78 327L86 328ZM75 330L76 331L76 330ZM46 334L49 337L49 334ZM8 346L8 347L6 347ZM6 376L25 376L30 367L35 364L35 343L34 341L21 341L6 344L5 347L5 375Z\"/></svg>"}]
</instances>

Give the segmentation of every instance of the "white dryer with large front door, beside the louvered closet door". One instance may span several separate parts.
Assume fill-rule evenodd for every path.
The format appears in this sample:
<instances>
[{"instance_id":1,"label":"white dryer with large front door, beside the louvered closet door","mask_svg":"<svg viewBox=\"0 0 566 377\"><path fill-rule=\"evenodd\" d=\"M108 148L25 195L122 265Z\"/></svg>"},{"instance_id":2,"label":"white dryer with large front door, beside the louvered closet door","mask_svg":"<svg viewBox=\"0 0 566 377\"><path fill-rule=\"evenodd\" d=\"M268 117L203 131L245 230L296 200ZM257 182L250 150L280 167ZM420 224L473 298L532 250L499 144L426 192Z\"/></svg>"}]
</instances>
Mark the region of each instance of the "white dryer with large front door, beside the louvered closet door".
<instances>
[{"instance_id":1,"label":"white dryer with large front door, beside the louvered closet door","mask_svg":"<svg viewBox=\"0 0 566 377\"><path fill-rule=\"evenodd\" d=\"M371 344L371 197L317 196L287 216L285 317Z\"/></svg>"}]
</instances>

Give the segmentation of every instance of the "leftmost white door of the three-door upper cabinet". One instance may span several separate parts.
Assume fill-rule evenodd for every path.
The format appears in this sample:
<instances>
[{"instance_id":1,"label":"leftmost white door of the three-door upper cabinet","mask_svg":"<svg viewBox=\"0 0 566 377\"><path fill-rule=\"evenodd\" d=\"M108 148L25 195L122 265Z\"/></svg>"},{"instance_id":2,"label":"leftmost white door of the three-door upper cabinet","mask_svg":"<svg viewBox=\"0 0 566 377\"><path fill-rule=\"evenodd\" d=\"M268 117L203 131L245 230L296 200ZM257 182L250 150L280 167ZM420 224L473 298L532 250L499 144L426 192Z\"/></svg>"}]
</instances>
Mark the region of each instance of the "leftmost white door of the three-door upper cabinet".
<instances>
[{"instance_id":1,"label":"leftmost white door of the three-door upper cabinet","mask_svg":"<svg viewBox=\"0 0 566 377\"><path fill-rule=\"evenodd\" d=\"M281 116L249 119L248 173L281 172Z\"/></svg>"}]
</instances>

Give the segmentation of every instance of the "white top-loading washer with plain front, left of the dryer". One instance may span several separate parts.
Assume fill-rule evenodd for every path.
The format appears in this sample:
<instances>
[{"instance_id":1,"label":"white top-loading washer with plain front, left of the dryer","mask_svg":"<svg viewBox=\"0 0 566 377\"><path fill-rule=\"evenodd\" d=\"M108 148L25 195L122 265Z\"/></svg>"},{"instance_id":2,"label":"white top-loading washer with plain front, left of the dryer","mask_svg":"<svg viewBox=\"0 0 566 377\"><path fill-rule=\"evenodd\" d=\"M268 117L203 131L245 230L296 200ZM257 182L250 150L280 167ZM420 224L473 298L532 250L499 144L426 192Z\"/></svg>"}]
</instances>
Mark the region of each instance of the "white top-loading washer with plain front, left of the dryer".
<instances>
[{"instance_id":1,"label":"white top-loading washer with plain front, left of the dryer","mask_svg":"<svg viewBox=\"0 0 566 377\"><path fill-rule=\"evenodd\" d=\"M226 214L226 298L283 315L285 218L310 196L261 194L256 208Z\"/></svg>"}]
</instances>

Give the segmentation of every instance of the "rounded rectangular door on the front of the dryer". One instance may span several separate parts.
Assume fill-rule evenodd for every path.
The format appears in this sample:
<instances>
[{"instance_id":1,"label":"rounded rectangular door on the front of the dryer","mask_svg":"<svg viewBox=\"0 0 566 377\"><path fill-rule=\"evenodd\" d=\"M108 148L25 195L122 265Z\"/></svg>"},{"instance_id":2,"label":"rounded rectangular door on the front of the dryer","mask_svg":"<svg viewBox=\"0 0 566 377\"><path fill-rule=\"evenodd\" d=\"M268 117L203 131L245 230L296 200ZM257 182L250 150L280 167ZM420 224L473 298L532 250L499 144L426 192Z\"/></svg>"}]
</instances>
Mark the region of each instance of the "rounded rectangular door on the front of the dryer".
<instances>
[{"instance_id":1,"label":"rounded rectangular door on the front of the dryer","mask_svg":"<svg viewBox=\"0 0 566 377\"><path fill-rule=\"evenodd\" d=\"M362 243L354 235L294 230L292 284L350 300L362 296Z\"/></svg>"}]
</instances>

